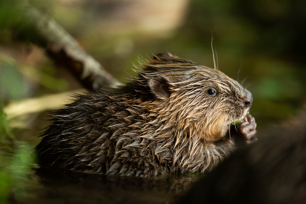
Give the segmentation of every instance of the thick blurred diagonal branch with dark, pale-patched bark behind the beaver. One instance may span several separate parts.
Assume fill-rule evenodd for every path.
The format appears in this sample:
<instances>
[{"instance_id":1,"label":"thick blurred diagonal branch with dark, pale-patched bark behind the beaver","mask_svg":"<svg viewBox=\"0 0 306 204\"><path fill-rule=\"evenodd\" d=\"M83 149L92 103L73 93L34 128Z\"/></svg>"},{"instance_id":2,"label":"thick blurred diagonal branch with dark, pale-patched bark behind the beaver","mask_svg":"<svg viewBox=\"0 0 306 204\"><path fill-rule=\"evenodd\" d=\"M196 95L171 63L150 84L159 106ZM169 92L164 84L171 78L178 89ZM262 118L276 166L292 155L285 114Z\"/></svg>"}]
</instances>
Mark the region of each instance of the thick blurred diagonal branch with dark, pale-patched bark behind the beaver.
<instances>
[{"instance_id":1,"label":"thick blurred diagonal branch with dark, pale-patched bark behind the beaver","mask_svg":"<svg viewBox=\"0 0 306 204\"><path fill-rule=\"evenodd\" d=\"M50 57L68 68L85 88L96 89L100 85L115 87L120 84L54 20L30 5L24 6L23 11L25 20L39 34L39 38L30 38L32 43L43 46Z\"/></svg>"}]
</instances>

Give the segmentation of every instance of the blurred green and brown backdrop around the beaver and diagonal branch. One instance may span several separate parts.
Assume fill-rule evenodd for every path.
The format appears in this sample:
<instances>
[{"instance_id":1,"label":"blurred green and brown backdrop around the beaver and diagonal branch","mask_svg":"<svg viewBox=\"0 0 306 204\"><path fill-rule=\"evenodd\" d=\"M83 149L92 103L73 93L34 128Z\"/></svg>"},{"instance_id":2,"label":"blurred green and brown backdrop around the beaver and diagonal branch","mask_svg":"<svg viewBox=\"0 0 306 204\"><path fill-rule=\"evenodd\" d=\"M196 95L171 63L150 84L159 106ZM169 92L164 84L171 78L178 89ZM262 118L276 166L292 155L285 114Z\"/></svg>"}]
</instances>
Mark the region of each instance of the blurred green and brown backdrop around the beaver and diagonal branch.
<instances>
[{"instance_id":1,"label":"blurred green and brown backdrop around the beaver and diagonal branch","mask_svg":"<svg viewBox=\"0 0 306 204\"><path fill-rule=\"evenodd\" d=\"M37 198L29 190L40 186L31 170L32 148L49 113L40 108L14 115L7 107L23 102L15 113L28 110L37 105L26 103L29 99L82 88L39 44L31 22L21 15L25 4L53 18L122 83L135 76L132 65L139 65L139 57L157 53L213 68L213 34L219 70L252 92L259 137L304 112L303 0L1 0L0 202ZM61 105L65 98L54 100Z\"/></svg>"}]
</instances>

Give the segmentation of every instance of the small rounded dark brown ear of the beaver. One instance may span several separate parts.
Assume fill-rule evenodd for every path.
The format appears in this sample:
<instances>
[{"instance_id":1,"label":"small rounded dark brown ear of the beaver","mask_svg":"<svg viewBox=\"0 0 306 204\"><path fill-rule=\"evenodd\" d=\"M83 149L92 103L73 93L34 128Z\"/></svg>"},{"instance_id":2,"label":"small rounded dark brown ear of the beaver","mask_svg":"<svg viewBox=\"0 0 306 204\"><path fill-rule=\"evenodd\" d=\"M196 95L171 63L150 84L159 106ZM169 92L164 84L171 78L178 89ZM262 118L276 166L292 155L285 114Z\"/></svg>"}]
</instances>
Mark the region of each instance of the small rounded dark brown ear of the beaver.
<instances>
[{"instance_id":1,"label":"small rounded dark brown ear of the beaver","mask_svg":"<svg viewBox=\"0 0 306 204\"><path fill-rule=\"evenodd\" d=\"M170 96L170 84L165 77L153 77L149 81L149 87L157 98L167 99Z\"/></svg>"}]
</instances>

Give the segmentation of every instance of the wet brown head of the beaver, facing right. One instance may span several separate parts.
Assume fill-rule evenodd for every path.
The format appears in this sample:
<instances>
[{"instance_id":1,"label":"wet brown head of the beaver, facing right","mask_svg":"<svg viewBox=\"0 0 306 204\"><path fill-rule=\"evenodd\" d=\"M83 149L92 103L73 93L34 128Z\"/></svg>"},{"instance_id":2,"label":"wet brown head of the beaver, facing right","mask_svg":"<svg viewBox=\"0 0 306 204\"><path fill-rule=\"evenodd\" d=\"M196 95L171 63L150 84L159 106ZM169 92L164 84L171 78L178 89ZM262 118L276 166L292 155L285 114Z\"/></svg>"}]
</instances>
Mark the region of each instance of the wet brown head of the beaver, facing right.
<instances>
[{"instance_id":1,"label":"wet brown head of the beaver, facing right","mask_svg":"<svg viewBox=\"0 0 306 204\"><path fill-rule=\"evenodd\" d=\"M187 137L202 135L204 141L214 142L252 105L252 94L219 70L171 54L158 54L147 62L144 70L136 71L142 77L137 81L147 83L156 98L156 107L149 111L157 116L159 130L172 126Z\"/></svg>"}]
</instances>

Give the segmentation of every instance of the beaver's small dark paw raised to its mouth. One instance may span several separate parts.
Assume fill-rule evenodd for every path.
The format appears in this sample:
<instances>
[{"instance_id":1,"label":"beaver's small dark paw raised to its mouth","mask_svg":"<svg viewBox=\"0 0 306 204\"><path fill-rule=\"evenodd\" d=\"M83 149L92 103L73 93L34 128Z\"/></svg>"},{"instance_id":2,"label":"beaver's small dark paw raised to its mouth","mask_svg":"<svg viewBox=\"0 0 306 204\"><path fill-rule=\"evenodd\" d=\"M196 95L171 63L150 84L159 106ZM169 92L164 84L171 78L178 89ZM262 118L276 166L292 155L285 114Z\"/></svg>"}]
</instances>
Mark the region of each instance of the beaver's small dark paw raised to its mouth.
<instances>
[{"instance_id":1,"label":"beaver's small dark paw raised to its mouth","mask_svg":"<svg viewBox=\"0 0 306 204\"><path fill-rule=\"evenodd\" d=\"M239 135L245 139L247 144L251 144L257 141L257 138L254 137L257 134L256 130L256 122L255 118L248 114L244 119L243 122L237 124L237 131Z\"/></svg>"}]
</instances>

